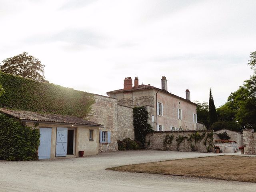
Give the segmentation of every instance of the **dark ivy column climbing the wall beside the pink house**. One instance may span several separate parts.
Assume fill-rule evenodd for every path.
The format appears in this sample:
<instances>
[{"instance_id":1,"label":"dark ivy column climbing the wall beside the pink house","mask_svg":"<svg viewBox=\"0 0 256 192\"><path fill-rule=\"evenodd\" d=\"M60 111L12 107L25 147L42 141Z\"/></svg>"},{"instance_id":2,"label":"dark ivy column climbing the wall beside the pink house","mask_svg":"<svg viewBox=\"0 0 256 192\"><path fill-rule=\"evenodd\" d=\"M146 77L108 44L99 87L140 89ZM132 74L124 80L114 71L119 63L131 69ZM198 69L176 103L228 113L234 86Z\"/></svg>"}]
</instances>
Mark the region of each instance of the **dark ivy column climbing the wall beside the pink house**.
<instances>
[{"instance_id":1,"label":"dark ivy column climbing the wall beside the pink house","mask_svg":"<svg viewBox=\"0 0 256 192\"><path fill-rule=\"evenodd\" d=\"M133 126L136 141L145 146L146 134L153 132L152 126L148 123L148 111L144 106L133 108Z\"/></svg>"}]
</instances>

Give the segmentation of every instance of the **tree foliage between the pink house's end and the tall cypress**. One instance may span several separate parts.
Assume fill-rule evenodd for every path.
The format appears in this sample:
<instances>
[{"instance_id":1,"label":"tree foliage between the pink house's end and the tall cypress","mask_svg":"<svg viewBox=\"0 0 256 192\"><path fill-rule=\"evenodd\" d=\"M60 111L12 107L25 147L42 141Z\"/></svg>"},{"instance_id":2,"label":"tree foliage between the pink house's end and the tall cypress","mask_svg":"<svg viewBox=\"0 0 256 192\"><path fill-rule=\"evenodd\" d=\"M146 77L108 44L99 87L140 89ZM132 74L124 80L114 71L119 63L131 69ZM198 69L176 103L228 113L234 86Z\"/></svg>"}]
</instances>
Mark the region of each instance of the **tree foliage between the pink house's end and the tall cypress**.
<instances>
[{"instance_id":1,"label":"tree foliage between the pink house's end and the tall cypress","mask_svg":"<svg viewBox=\"0 0 256 192\"><path fill-rule=\"evenodd\" d=\"M202 122L207 128L209 128L209 104L207 102L200 103L199 101L194 101L198 106L196 106L197 120Z\"/></svg>"}]
</instances>

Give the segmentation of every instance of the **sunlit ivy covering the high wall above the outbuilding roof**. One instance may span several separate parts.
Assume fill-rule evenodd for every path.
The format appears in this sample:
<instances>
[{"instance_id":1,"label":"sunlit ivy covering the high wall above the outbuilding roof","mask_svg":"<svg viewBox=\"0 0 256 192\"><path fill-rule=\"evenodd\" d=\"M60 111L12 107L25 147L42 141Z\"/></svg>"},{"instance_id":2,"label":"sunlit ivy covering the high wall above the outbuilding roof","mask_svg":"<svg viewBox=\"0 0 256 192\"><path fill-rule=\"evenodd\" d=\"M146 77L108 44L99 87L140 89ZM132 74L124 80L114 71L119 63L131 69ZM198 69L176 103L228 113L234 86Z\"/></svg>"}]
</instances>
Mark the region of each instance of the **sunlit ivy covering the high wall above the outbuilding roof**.
<instances>
[{"instance_id":1,"label":"sunlit ivy covering the high wall above the outbuilding roof","mask_svg":"<svg viewBox=\"0 0 256 192\"><path fill-rule=\"evenodd\" d=\"M93 94L59 85L0 72L0 84L5 93L0 107L84 117L94 103Z\"/></svg>"}]
</instances>

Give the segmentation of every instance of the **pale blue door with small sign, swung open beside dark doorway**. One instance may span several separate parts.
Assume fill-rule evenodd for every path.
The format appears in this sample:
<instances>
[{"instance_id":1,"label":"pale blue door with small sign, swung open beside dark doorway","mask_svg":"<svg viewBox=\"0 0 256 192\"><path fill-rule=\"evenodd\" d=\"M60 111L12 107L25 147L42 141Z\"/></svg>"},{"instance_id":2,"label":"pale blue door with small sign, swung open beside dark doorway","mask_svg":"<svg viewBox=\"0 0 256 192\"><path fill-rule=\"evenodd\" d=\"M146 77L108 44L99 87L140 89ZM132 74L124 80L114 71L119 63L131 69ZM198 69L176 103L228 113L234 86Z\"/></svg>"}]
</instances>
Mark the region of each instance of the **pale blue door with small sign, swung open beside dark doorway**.
<instances>
[{"instance_id":1,"label":"pale blue door with small sign, swung open beside dark doorway","mask_svg":"<svg viewBox=\"0 0 256 192\"><path fill-rule=\"evenodd\" d=\"M67 155L68 128L57 127L56 157Z\"/></svg>"}]
</instances>

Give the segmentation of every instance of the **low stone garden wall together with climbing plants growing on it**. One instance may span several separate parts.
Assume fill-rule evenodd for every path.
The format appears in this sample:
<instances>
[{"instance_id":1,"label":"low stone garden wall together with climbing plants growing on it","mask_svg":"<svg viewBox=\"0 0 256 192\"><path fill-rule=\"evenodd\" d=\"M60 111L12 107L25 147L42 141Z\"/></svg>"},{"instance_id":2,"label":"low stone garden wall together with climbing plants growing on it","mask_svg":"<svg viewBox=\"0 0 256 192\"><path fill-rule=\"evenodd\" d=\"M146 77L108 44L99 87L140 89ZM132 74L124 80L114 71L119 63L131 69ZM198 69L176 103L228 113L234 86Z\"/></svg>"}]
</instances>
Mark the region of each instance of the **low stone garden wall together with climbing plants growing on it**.
<instances>
[{"instance_id":1,"label":"low stone garden wall together with climbing plants growing on it","mask_svg":"<svg viewBox=\"0 0 256 192\"><path fill-rule=\"evenodd\" d=\"M202 137L196 143L193 137ZM166 138L173 137L172 142L168 143ZM183 137L180 144L176 141ZM185 137L185 138L184 138ZM189 139L192 137L191 141ZM206 140L206 145L204 144ZM170 139L169 139L170 141ZM166 144L167 142L167 144ZM177 145L178 144L178 145ZM146 135L145 147L147 150L169 150L169 151L198 151L209 152L214 151L213 132L206 131L155 131ZM194 145L194 147L193 147Z\"/></svg>"}]
</instances>

